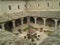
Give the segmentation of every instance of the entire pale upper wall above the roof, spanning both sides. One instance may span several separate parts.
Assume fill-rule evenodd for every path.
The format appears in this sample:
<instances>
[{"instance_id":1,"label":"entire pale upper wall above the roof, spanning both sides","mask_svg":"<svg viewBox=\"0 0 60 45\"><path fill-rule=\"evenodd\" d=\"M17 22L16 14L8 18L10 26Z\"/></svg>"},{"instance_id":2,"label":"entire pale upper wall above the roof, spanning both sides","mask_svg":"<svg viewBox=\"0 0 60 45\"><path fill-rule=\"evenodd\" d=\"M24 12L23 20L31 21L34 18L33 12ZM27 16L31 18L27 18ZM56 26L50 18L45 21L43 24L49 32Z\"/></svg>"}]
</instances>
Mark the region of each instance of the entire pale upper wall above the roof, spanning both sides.
<instances>
[{"instance_id":1,"label":"entire pale upper wall above the roof, spanning both sides","mask_svg":"<svg viewBox=\"0 0 60 45\"><path fill-rule=\"evenodd\" d=\"M60 11L59 0L43 1L0 1L0 13L21 11ZM9 10L9 5L11 10ZM18 5L20 9L18 9Z\"/></svg>"}]
</instances>

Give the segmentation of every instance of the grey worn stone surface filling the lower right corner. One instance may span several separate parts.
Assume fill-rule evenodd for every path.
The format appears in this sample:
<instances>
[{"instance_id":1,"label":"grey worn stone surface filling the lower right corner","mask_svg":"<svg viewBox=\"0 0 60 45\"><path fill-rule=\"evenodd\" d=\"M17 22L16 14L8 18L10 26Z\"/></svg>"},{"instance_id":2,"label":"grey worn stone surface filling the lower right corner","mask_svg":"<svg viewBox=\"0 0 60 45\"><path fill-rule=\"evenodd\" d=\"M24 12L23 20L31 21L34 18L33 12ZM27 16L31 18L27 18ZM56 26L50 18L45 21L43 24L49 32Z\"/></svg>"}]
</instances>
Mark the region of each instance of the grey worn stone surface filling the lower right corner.
<instances>
[{"instance_id":1,"label":"grey worn stone surface filling the lower right corner","mask_svg":"<svg viewBox=\"0 0 60 45\"><path fill-rule=\"evenodd\" d=\"M55 32L46 38L40 45L60 45L60 31L55 30Z\"/></svg>"}]
</instances>

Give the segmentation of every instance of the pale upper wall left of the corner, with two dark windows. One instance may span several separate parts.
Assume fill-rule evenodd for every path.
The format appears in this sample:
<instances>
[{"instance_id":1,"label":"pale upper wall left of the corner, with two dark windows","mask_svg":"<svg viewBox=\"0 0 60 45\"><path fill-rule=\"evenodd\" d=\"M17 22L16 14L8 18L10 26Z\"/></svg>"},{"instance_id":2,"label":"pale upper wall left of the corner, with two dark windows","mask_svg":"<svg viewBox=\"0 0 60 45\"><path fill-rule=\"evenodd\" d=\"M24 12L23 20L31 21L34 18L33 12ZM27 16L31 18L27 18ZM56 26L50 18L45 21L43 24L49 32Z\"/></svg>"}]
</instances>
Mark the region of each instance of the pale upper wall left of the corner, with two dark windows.
<instances>
[{"instance_id":1,"label":"pale upper wall left of the corner, with two dark windows","mask_svg":"<svg viewBox=\"0 0 60 45\"><path fill-rule=\"evenodd\" d=\"M11 10L9 10L11 5ZM20 9L18 9L18 5ZM25 10L25 1L0 1L0 13L13 13Z\"/></svg>"}]
</instances>

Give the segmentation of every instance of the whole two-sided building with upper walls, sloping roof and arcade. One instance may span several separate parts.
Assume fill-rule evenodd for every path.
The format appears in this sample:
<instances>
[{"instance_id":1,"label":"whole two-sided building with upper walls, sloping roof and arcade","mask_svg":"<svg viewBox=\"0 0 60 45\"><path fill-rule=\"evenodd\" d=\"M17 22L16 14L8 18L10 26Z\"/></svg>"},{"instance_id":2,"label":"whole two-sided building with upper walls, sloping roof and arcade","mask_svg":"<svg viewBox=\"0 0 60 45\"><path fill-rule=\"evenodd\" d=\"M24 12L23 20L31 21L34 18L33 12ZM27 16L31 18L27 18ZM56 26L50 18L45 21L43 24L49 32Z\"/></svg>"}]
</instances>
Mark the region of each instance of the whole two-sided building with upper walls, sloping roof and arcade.
<instances>
[{"instance_id":1,"label":"whole two-sided building with upper walls, sloping roof and arcade","mask_svg":"<svg viewBox=\"0 0 60 45\"><path fill-rule=\"evenodd\" d=\"M60 0L0 1L1 29L18 30L28 22L60 28Z\"/></svg>"}]
</instances>

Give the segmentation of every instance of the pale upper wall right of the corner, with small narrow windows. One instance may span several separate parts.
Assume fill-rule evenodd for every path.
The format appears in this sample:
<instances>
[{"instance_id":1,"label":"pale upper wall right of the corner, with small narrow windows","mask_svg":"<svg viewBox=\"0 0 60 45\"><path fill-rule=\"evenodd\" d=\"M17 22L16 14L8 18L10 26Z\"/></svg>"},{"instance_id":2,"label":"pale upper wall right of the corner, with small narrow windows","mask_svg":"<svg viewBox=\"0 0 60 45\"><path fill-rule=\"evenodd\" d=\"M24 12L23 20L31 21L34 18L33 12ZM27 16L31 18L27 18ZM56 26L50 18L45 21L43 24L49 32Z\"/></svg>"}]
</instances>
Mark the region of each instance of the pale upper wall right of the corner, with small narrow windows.
<instances>
[{"instance_id":1,"label":"pale upper wall right of the corner, with small narrow windows","mask_svg":"<svg viewBox=\"0 0 60 45\"><path fill-rule=\"evenodd\" d=\"M27 7L34 11L60 11L59 1L28 1Z\"/></svg>"}]
</instances>

